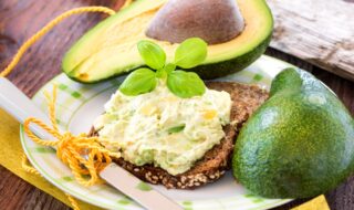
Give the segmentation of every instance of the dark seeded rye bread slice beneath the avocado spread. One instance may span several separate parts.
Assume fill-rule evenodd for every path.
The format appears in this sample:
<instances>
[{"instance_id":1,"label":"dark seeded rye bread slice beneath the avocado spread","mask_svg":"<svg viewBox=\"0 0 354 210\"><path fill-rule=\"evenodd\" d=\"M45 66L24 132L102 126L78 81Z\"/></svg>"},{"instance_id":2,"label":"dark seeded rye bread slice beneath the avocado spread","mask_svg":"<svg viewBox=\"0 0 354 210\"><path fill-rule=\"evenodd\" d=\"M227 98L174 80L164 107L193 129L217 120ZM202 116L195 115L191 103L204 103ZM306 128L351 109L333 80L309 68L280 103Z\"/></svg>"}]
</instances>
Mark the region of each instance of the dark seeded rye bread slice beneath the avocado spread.
<instances>
[{"instance_id":1,"label":"dark seeded rye bread slice beneath the avocado spread","mask_svg":"<svg viewBox=\"0 0 354 210\"><path fill-rule=\"evenodd\" d=\"M153 165L135 166L123 158L115 159L115 162L139 179L150 183L163 183L166 188L192 189L219 179L230 168L231 154L239 129L268 98L268 93L254 85L231 82L207 82L206 84L211 90L226 91L231 95L231 123L225 126L226 137L220 144L207 151L190 170L173 176ZM92 129L90 135L97 136L97 132Z\"/></svg>"}]
</instances>

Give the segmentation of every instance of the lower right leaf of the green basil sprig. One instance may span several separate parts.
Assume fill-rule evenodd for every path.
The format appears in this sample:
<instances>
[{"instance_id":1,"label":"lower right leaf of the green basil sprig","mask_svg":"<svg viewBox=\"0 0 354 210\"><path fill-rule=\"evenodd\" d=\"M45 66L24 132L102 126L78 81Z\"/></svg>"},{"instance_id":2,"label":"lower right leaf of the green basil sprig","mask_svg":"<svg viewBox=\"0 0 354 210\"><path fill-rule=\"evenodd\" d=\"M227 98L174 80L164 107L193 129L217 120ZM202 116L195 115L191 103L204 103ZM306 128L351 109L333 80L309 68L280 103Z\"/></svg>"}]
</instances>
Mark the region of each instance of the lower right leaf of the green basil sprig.
<instances>
[{"instance_id":1,"label":"lower right leaf of the green basil sprig","mask_svg":"<svg viewBox=\"0 0 354 210\"><path fill-rule=\"evenodd\" d=\"M206 92L202 80L194 72L174 71L169 73L167 86L170 92L181 98L202 95Z\"/></svg>"}]
</instances>

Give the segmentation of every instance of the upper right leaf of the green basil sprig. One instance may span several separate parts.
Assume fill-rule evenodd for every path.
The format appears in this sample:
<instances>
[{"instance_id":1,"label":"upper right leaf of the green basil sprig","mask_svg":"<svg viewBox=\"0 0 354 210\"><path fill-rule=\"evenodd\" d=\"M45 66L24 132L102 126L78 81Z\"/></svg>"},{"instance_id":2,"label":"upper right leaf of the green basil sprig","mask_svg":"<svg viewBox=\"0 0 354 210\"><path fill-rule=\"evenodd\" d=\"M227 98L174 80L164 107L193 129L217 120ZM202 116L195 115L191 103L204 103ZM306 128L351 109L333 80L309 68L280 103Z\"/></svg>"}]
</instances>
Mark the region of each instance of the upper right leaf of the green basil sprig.
<instances>
[{"instance_id":1,"label":"upper right leaf of the green basil sprig","mask_svg":"<svg viewBox=\"0 0 354 210\"><path fill-rule=\"evenodd\" d=\"M185 40L177 48L175 64L183 69L191 69L202 63L207 57L208 44L199 38Z\"/></svg>"}]
</instances>

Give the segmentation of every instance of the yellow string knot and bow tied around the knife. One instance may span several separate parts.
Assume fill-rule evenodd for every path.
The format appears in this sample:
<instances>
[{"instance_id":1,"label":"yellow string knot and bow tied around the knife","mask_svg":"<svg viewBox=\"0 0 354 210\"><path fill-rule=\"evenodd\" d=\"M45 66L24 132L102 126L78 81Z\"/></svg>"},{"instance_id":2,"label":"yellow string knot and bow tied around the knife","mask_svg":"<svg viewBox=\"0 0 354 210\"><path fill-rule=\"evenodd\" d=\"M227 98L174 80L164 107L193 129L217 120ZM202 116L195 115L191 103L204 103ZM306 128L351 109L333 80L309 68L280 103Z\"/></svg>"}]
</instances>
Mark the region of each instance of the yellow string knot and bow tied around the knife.
<instances>
[{"instance_id":1,"label":"yellow string knot and bow tied around the knife","mask_svg":"<svg viewBox=\"0 0 354 210\"><path fill-rule=\"evenodd\" d=\"M86 134L74 136L70 132L61 134L55 120L56 86L53 87L52 95L51 97L45 93L52 127L49 127L40 119L31 117L23 124L25 134L39 145L56 148L56 156L70 167L75 179L81 185L90 187L102 182L98 177L100 171L112 162L112 157L119 158L121 154L112 153L104 148L98 137L90 137ZM32 123L53 136L55 140L44 140L34 135L30 130L30 124Z\"/></svg>"}]
</instances>

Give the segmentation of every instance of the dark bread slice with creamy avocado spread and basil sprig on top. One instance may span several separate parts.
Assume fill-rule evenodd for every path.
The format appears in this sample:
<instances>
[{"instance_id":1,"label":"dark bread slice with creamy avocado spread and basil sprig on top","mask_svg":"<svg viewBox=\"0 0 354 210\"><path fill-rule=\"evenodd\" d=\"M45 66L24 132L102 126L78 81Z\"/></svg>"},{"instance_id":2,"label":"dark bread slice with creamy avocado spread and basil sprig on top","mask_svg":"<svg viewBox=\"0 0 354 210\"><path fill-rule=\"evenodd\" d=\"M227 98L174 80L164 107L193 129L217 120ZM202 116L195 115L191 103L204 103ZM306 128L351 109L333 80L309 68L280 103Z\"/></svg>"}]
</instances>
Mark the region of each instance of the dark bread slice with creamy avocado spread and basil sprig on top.
<instances>
[{"instance_id":1,"label":"dark bread slice with creamy avocado spread and basil sprig on top","mask_svg":"<svg viewBox=\"0 0 354 210\"><path fill-rule=\"evenodd\" d=\"M228 82L206 85L196 73L176 70L205 60L201 39L184 41L173 63L150 41L138 42L137 49L155 71L139 69L125 78L94 122L92 135L122 154L118 165L152 183L189 189L218 180L230 167L236 130L267 92Z\"/></svg>"}]
</instances>

